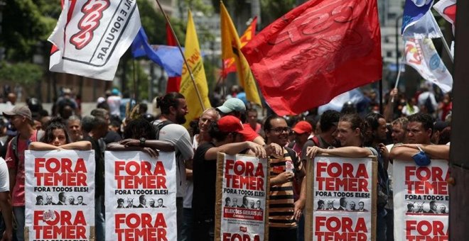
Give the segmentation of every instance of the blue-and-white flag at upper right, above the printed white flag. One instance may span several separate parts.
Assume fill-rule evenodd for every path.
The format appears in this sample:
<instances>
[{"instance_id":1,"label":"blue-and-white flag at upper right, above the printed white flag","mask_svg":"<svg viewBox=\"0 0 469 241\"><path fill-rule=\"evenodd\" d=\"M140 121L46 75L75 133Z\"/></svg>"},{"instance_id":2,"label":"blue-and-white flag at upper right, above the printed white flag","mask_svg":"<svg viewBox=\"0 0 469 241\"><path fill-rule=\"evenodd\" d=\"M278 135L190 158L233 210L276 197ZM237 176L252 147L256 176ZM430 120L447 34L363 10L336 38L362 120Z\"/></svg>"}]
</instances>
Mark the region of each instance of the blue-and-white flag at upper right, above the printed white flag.
<instances>
[{"instance_id":1,"label":"blue-and-white flag at upper right, above the printed white flag","mask_svg":"<svg viewBox=\"0 0 469 241\"><path fill-rule=\"evenodd\" d=\"M432 5L433 0L406 0L401 28L404 39L443 37L430 11Z\"/></svg>"}]
</instances>

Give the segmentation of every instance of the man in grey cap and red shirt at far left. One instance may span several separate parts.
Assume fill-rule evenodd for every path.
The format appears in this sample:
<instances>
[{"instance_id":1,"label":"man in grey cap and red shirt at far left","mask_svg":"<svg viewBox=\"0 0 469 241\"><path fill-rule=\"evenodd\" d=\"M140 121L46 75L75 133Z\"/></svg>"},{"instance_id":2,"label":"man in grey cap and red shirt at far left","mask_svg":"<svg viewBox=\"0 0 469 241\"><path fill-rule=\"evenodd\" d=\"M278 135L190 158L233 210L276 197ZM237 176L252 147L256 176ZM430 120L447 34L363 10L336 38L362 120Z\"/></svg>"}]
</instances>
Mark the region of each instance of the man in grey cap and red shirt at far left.
<instances>
[{"instance_id":1,"label":"man in grey cap and red shirt at far left","mask_svg":"<svg viewBox=\"0 0 469 241\"><path fill-rule=\"evenodd\" d=\"M11 198L17 223L16 238L24 240L24 151L28 150L29 143L39 141L40 138L38 138L38 130L33 128L33 118L28 106L15 106L11 111L5 111L3 114L9 118L10 123L19 133L9 142L5 160L9 168L10 189L13 190Z\"/></svg>"}]
</instances>

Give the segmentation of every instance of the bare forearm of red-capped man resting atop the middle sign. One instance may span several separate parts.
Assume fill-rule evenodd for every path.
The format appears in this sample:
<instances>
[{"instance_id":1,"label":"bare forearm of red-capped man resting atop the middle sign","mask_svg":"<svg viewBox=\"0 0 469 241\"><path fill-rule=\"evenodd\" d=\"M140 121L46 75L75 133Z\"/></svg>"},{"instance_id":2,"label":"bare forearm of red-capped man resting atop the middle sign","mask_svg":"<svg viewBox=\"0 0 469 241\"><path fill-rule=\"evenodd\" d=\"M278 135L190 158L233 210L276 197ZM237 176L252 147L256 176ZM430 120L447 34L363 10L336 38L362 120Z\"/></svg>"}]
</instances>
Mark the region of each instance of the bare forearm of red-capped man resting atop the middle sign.
<instances>
[{"instance_id":1,"label":"bare forearm of red-capped man resting atop the middle sign","mask_svg":"<svg viewBox=\"0 0 469 241\"><path fill-rule=\"evenodd\" d=\"M224 152L227 155L237 155L239 152L246 149L254 151L254 153L261 158L266 157L266 151L262 145L258 145L254 142L236 142L210 148L205 152L205 159L217 159L218 152Z\"/></svg>"}]
</instances>

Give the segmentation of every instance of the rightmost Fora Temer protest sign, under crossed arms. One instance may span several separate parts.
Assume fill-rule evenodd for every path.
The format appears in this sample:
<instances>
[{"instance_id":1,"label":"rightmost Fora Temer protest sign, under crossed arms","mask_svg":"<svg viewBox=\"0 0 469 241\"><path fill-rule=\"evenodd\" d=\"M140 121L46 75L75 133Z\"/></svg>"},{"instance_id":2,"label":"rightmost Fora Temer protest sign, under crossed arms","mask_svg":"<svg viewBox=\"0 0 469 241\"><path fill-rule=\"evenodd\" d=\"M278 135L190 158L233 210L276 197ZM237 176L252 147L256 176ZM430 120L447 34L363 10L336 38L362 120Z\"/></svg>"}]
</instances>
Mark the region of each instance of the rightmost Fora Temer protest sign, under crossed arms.
<instances>
[{"instance_id":1,"label":"rightmost Fora Temer protest sign, under crossed arms","mask_svg":"<svg viewBox=\"0 0 469 241\"><path fill-rule=\"evenodd\" d=\"M448 161L394 160L394 240L448 240Z\"/></svg>"}]
</instances>

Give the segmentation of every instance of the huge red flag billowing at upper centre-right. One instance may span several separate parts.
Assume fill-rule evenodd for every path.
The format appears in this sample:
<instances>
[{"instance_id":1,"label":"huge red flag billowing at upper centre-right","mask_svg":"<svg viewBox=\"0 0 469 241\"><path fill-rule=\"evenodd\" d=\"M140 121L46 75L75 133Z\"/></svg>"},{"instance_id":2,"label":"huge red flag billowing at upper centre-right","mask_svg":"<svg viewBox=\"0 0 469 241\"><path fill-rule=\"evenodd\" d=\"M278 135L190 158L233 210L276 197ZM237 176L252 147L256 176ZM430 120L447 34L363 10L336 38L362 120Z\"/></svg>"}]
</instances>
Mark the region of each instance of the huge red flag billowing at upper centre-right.
<instances>
[{"instance_id":1,"label":"huge red flag billowing at upper centre-right","mask_svg":"<svg viewBox=\"0 0 469 241\"><path fill-rule=\"evenodd\" d=\"M242 52L269 106L298 114L382 77L376 0L312 0L256 35Z\"/></svg>"}]
</instances>

